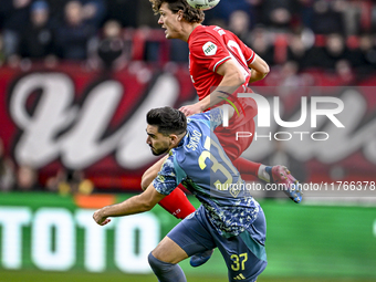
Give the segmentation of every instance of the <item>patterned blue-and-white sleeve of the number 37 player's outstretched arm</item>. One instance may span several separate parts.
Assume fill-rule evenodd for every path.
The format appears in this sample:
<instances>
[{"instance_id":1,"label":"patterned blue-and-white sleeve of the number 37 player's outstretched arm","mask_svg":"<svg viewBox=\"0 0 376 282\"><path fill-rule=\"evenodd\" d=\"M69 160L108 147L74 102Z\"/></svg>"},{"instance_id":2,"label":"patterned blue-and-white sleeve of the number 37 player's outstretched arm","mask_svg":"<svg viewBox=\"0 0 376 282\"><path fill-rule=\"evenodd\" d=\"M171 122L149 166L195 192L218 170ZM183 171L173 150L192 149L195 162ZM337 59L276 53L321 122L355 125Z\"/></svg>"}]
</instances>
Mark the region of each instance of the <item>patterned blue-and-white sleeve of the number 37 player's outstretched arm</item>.
<instances>
[{"instance_id":1,"label":"patterned blue-and-white sleeve of the number 37 player's outstretched arm","mask_svg":"<svg viewBox=\"0 0 376 282\"><path fill-rule=\"evenodd\" d=\"M169 195L178 185L174 166L174 156L169 155L158 176L153 180L154 188L161 195Z\"/></svg>"}]
</instances>

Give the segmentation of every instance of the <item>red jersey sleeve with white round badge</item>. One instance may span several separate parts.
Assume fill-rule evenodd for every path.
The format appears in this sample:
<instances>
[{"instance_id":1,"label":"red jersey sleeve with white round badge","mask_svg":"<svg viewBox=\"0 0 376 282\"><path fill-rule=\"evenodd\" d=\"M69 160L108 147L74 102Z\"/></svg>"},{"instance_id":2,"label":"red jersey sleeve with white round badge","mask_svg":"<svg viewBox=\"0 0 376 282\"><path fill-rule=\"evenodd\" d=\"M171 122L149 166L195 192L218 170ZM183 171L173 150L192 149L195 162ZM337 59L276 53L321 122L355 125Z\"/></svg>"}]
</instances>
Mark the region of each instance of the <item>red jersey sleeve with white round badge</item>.
<instances>
[{"instance_id":1,"label":"red jersey sleeve with white round badge","mask_svg":"<svg viewBox=\"0 0 376 282\"><path fill-rule=\"evenodd\" d=\"M189 51L197 64L212 72L216 72L219 65L231 59L223 43L209 33L200 33L200 36L196 36Z\"/></svg>"}]
</instances>

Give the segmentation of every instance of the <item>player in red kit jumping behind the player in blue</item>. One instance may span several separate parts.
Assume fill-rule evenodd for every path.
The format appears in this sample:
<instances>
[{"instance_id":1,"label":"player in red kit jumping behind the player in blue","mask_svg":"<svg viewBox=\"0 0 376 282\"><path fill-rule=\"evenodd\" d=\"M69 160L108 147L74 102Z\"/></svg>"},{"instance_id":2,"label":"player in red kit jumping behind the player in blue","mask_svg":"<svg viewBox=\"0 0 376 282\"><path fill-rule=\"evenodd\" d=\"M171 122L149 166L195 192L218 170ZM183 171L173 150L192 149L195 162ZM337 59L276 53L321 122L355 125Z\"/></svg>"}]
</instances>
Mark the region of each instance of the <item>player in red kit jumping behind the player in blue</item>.
<instances>
[{"instance_id":1,"label":"player in red kit jumping behind the player in blue","mask_svg":"<svg viewBox=\"0 0 376 282\"><path fill-rule=\"evenodd\" d=\"M296 184L296 179L283 166L264 166L240 157L252 143L252 137L236 140L234 132L254 133L253 117L258 113L252 98L236 98L236 94L249 92L248 83L262 80L269 73L268 64L232 32L215 25L202 25L203 12L190 7L186 0L149 1L153 10L160 14L158 23L166 30L166 38L180 39L189 46L189 72L199 102L182 106L180 111L190 116L230 100L239 108L239 115L231 118L230 127L220 126L215 133L240 174L250 174L268 182L286 184L289 187ZM143 188L148 187L157 176L164 160L160 159L145 171ZM302 199L300 194L291 190L288 195L295 202ZM180 189L175 189L159 205L177 218L185 218L195 210ZM202 260L199 261L194 264L201 264Z\"/></svg>"}]
</instances>

